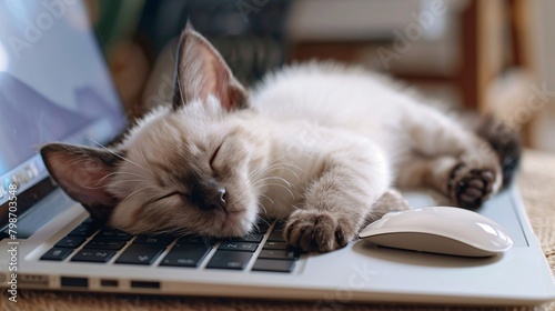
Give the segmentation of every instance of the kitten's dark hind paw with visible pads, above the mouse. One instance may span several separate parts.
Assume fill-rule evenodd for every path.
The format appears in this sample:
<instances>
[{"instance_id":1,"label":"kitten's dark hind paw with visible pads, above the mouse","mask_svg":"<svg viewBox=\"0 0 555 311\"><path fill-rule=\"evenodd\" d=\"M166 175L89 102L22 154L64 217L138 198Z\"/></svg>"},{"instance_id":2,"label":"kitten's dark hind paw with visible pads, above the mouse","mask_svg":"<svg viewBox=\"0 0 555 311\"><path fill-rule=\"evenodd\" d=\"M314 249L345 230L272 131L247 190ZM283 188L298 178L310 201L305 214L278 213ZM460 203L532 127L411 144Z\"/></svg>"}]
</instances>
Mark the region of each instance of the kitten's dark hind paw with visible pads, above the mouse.
<instances>
[{"instance_id":1,"label":"kitten's dark hind paw with visible pads, above the mouse","mask_svg":"<svg viewBox=\"0 0 555 311\"><path fill-rule=\"evenodd\" d=\"M494 191L495 172L488 169L470 169L461 163L455 165L447 191L455 203L465 209L477 209Z\"/></svg>"}]
</instances>

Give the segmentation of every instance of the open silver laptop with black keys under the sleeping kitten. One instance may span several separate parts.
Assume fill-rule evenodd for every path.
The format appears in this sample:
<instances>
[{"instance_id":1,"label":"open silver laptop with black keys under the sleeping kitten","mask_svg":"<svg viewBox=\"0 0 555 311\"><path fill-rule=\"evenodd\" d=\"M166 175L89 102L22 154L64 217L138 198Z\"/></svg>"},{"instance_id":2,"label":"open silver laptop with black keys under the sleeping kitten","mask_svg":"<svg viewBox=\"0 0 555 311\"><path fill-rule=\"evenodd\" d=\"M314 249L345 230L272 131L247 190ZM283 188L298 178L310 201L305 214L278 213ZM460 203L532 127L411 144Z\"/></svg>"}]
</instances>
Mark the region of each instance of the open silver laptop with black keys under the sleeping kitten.
<instances>
[{"instance_id":1,"label":"open silver laptop with black keys under the sleeping kitten","mask_svg":"<svg viewBox=\"0 0 555 311\"><path fill-rule=\"evenodd\" d=\"M299 253L271 220L241 239L130 235L93 223L50 180L37 147L105 143L125 127L84 6L0 0L0 284L20 289L347 302L536 304L552 272L515 187L480 212L514 247L491 258L411 252L354 241ZM417 207L438 204L405 192ZM16 198L16 199L14 199Z\"/></svg>"}]
</instances>

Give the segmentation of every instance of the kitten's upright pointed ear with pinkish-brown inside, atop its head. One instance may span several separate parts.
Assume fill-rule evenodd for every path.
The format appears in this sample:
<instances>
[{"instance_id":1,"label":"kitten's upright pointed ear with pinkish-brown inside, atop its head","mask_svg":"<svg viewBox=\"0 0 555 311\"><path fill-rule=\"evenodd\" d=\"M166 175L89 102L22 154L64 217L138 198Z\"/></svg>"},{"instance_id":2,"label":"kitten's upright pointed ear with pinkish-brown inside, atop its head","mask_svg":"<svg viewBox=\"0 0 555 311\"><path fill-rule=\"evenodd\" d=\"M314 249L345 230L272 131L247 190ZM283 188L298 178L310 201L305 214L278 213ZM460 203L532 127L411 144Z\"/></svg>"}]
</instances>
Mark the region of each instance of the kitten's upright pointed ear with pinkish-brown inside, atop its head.
<instances>
[{"instance_id":1,"label":"kitten's upright pointed ear with pinkish-brown inside, atop its head","mask_svg":"<svg viewBox=\"0 0 555 311\"><path fill-rule=\"evenodd\" d=\"M226 110L248 107L248 92L220 53L188 23L181 33L175 62L173 109L212 94Z\"/></svg>"}]
</instances>

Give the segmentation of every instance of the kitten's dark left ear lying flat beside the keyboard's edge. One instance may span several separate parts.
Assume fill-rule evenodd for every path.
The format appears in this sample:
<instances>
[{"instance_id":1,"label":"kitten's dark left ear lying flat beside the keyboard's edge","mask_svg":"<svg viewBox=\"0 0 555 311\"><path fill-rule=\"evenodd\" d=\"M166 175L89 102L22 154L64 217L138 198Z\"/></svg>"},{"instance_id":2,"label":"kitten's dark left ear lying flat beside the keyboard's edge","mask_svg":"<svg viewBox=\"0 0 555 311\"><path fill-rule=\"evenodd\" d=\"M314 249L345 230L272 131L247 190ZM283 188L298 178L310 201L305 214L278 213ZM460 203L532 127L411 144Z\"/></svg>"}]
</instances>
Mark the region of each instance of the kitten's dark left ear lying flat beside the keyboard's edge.
<instances>
[{"instance_id":1,"label":"kitten's dark left ear lying flat beside the keyboard's edge","mask_svg":"<svg viewBox=\"0 0 555 311\"><path fill-rule=\"evenodd\" d=\"M46 144L40 153L57 184L83 204L95 221L107 222L118 204L107 184L122 157L103 149L64 143Z\"/></svg>"}]
</instances>

